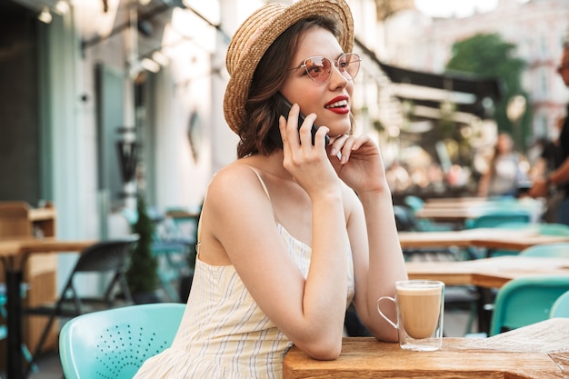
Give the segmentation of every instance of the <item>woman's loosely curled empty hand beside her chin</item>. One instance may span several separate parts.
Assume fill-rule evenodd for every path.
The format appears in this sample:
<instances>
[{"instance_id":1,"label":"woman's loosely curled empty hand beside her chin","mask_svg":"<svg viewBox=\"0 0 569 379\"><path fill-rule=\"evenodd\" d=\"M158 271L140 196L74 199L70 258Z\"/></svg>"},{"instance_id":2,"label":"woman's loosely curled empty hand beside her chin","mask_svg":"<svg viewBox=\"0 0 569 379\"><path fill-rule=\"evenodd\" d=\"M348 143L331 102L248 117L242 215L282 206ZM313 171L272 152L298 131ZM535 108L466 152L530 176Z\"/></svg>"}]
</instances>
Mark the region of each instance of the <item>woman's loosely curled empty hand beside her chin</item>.
<instances>
[{"instance_id":1,"label":"woman's loosely curled empty hand beside her chin","mask_svg":"<svg viewBox=\"0 0 569 379\"><path fill-rule=\"evenodd\" d=\"M334 170L358 194L388 188L379 148L367 135L339 135L328 146Z\"/></svg>"}]
</instances>

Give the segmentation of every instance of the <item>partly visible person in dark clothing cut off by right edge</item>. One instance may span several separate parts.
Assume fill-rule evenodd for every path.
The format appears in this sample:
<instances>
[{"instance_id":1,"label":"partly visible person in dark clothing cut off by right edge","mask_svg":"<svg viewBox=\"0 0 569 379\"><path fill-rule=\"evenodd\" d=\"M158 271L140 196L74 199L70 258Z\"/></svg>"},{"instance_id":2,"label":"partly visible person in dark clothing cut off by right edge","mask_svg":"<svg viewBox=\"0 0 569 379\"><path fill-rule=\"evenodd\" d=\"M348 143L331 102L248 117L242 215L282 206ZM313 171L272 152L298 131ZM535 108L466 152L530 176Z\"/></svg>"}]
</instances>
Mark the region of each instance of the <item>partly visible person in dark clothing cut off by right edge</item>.
<instances>
[{"instance_id":1,"label":"partly visible person in dark clothing cut off by right edge","mask_svg":"<svg viewBox=\"0 0 569 379\"><path fill-rule=\"evenodd\" d=\"M569 88L569 38L565 40L557 73L561 76L564 85ZM569 105L567 105L565 115L569 115ZM532 197L545 197L551 194L552 188L563 191L564 197L556 208L556 222L569 224L569 117L567 116L564 118L559 134L557 153L559 154L559 162L555 169L544 178L535 179L529 194Z\"/></svg>"}]
</instances>

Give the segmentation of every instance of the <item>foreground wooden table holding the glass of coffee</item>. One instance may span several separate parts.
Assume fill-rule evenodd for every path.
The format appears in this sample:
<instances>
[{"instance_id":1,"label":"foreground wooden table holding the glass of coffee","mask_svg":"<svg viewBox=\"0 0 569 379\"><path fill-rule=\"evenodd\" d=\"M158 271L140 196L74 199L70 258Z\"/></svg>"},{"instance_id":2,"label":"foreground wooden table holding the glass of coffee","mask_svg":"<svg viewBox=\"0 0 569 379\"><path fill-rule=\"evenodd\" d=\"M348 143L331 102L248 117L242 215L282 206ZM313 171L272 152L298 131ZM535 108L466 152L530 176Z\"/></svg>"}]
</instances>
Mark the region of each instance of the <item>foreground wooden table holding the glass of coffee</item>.
<instances>
[{"instance_id":1,"label":"foreground wooden table holding the glass of coffee","mask_svg":"<svg viewBox=\"0 0 569 379\"><path fill-rule=\"evenodd\" d=\"M293 347L283 378L569 377L569 319L551 319L485 339L444 338L435 352L408 352L370 337L344 338L334 361L316 361Z\"/></svg>"}]
</instances>

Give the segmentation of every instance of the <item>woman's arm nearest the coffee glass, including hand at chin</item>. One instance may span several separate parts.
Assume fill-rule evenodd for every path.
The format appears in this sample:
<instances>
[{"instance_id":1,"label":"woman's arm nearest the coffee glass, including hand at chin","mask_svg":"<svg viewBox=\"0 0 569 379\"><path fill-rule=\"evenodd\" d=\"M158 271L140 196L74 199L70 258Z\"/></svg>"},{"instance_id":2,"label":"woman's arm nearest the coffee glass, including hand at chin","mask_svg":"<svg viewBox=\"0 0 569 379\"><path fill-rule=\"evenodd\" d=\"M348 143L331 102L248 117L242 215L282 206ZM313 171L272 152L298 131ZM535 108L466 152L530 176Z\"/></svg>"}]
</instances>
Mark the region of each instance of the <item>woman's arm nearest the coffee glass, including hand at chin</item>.
<instances>
[{"instance_id":1,"label":"woman's arm nearest the coffee glass, including hand at chin","mask_svg":"<svg viewBox=\"0 0 569 379\"><path fill-rule=\"evenodd\" d=\"M407 278L395 225L391 192L378 147L366 136L334 141L342 161L333 165L352 192L346 194L347 228L354 255L354 304L363 324L380 340L396 341L397 333L377 312L377 299L394 296L394 282ZM332 152L334 153L334 152ZM394 306L387 314L394 320Z\"/></svg>"}]
</instances>

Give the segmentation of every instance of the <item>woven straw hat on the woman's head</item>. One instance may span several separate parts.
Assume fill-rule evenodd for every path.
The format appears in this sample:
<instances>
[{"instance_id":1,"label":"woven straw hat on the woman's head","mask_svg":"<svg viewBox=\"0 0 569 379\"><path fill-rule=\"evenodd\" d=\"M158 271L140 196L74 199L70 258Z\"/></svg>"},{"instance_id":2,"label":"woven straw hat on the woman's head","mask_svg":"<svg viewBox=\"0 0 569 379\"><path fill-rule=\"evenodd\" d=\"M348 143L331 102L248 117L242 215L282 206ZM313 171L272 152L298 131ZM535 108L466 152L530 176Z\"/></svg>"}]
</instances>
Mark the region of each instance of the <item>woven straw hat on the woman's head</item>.
<instances>
[{"instance_id":1,"label":"woven straw hat on the woman's head","mask_svg":"<svg viewBox=\"0 0 569 379\"><path fill-rule=\"evenodd\" d=\"M237 29L229 47L225 65L231 78L225 90L225 121L239 133L247 120L245 101L253 73L266 50L289 26L313 15L327 15L338 20L343 34L338 41L344 52L354 45L354 20L344 0L299 0L293 5L267 4L257 9Z\"/></svg>"}]
</instances>

